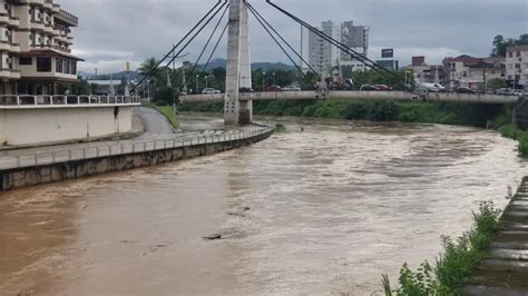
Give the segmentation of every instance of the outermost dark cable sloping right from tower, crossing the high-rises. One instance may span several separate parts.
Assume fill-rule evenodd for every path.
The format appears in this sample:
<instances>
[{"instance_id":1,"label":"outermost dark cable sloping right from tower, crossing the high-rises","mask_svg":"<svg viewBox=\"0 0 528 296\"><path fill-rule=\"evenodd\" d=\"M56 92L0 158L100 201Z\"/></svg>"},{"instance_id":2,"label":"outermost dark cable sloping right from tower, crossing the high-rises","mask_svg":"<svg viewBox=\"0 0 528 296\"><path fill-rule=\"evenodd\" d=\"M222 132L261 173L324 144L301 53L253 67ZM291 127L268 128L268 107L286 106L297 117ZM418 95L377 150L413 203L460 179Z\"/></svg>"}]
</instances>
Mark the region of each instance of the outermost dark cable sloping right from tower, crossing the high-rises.
<instances>
[{"instance_id":1,"label":"outermost dark cable sloping right from tower, crossing the high-rises","mask_svg":"<svg viewBox=\"0 0 528 296\"><path fill-rule=\"evenodd\" d=\"M335 39L329 37L324 32L321 32L316 28L310 26L305 21L301 20L300 18L295 17L294 14L287 12L286 10L284 10L284 9L280 8L278 6L276 6L275 3L271 2L271 0L266 0L266 2L268 4L271 4L272 7L274 7L275 9L277 9L278 11L281 11L282 13L286 14L289 18L291 18L294 21L296 21L297 23L302 24L303 27L305 27L310 31L316 33L317 36L320 36L321 38L323 38L324 40L326 40L331 45L338 47L340 50L349 53L350 56L352 56L353 58L355 58L356 60L359 60L360 62L362 62L366 67L369 67L372 70L377 71L378 73L384 76L385 78L389 78L389 76L388 76L388 73L389 73L389 75L392 76L392 78L397 78L398 81L400 81L400 82L403 80L400 76L395 75L393 71L388 70L385 67L379 66L377 62L370 60L369 58L362 56L361 53L356 52L355 50L349 48L346 45L344 45L340 41L336 41Z\"/></svg>"}]
</instances>

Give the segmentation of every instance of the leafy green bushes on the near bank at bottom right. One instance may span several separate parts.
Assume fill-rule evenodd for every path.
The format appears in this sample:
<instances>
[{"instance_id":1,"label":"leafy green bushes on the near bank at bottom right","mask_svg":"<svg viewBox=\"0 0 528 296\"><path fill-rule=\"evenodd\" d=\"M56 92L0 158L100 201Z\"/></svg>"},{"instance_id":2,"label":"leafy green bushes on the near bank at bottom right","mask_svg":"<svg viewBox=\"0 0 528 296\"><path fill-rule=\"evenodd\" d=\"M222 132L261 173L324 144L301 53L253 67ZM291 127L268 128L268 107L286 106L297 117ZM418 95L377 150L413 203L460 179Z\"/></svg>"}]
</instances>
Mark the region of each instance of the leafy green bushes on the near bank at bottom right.
<instances>
[{"instance_id":1,"label":"leafy green bushes on the near bank at bottom right","mask_svg":"<svg viewBox=\"0 0 528 296\"><path fill-rule=\"evenodd\" d=\"M473 227L461 237L443 237L444 253L432 267L428 262L412 272L407 264L400 270L400 287L393 289L383 275L382 287L388 296L461 295L465 280L487 257L491 239L499 226L500 210L492 201L480 204L473 213Z\"/></svg>"}]
</instances>

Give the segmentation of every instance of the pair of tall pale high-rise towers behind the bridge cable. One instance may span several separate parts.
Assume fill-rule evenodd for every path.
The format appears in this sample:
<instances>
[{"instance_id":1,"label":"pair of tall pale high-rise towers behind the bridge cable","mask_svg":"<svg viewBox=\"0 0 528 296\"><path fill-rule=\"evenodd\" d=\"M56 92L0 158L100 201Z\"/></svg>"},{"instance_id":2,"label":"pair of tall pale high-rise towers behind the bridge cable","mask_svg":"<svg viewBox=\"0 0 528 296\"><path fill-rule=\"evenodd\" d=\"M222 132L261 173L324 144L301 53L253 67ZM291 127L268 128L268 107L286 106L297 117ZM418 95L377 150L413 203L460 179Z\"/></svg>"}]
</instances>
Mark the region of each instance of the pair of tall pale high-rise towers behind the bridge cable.
<instances>
[{"instance_id":1,"label":"pair of tall pale high-rise towers behind the bridge cable","mask_svg":"<svg viewBox=\"0 0 528 296\"><path fill-rule=\"evenodd\" d=\"M324 21L319 30L366 57L369 51L368 27L354 26L353 21L345 21L341 26L335 26L332 21ZM303 30L301 36L303 58L322 76L329 76L332 69L338 66L363 69L363 63L353 59L351 55L342 52L316 33ZM303 65L303 69L307 70L307 66Z\"/></svg>"}]
</instances>

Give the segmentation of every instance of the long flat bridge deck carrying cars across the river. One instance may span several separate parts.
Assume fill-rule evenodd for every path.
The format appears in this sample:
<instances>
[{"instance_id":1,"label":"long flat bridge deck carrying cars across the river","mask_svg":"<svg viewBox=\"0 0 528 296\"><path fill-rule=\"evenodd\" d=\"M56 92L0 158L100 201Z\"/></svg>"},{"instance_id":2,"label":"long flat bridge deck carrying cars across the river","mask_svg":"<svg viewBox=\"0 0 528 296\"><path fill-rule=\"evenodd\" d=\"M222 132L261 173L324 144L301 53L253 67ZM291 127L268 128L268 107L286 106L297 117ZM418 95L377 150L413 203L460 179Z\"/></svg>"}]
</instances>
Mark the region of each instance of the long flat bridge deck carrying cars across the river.
<instances>
[{"instance_id":1,"label":"long flat bridge deck carrying cars across the river","mask_svg":"<svg viewBox=\"0 0 528 296\"><path fill-rule=\"evenodd\" d=\"M223 93L188 95L183 102L223 102ZM420 96L407 91L330 91L326 96L315 91L242 92L239 99L247 100L317 100L317 99L371 99L371 100L427 100L478 103L515 103L517 97L498 95L473 95L451 92L429 92Z\"/></svg>"}]
</instances>

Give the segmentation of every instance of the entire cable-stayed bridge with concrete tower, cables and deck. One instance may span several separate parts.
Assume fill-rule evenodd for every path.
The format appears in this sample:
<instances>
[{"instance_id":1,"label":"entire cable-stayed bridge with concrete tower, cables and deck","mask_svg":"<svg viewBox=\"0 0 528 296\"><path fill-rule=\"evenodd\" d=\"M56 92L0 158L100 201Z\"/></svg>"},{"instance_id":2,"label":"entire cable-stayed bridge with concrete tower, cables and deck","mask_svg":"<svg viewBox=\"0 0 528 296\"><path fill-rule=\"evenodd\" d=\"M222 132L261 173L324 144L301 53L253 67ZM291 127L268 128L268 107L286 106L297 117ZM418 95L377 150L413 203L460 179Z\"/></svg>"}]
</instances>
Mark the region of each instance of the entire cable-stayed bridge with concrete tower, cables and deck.
<instances>
[{"instance_id":1,"label":"entire cable-stayed bridge with concrete tower, cables and deck","mask_svg":"<svg viewBox=\"0 0 528 296\"><path fill-rule=\"evenodd\" d=\"M291 19L293 22L301 24L310 32L319 36L322 40L336 47L342 52L352 56L354 59L363 63L368 69L371 69L390 81L395 81L403 88L409 88L407 82L395 72L378 65L375 61L369 59L349 48L346 45L333 39L332 37L320 31L317 28L310 26L301 18L284 10L280 6L266 0L266 3L273 7L278 13ZM228 13L227 13L228 12ZM222 42L225 32L227 31L227 65L226 65L226 83L225 93L211 95L185 95L180 96L179 100L183 102L224 102L224 119L226 125L247 125L252 122L253 117L253 101L254 100L319 100L319 99L383 99L383 100L427 100L427 101L447 101L447 102L473 102L473 103L515 103L518 101L517 97L507 97L498 95L480 95L480 93L448 93L448 92L421 92L412 91L331 91L327 90L324 83L324 73L320 73L313 69L310 63L303 59L302 55L287 42L287 40L263 17L262 13L253 7L248 0L218 0L216 4L207 11L207 13L184 36L184 38L173 47L173 49L165 55L159 61L158 67L163 65L170 65L182 52L192 43L193 40L216 18L218 18L214 30L207 39L206 45L202 49L196 62L193 66L193 71L198 67L205 51L212 45L213 38L221 28L221 23L225 16L228 14L228 20L224 26L223 31L213 50L208 57L207 62L203 66L202 72L207 69L211 59ZM247 91L252 89L252 71L251 71L251 51L250 51L250 14L263 27L264 31L271 37L273 42L286 55L287 59L297 68L297 70L305 75L301 69L300 62L306 65L309 70L313 72L321 87L315 91L280 91L280 92L253 92ZM219 17L218 17L219 16ZM168 61L168 62L167 62ZM147 81L145 77L139 81L138 86ZM404 85L405 83L405 85ZM136 86L137 88L137 86ZM182 93L184 86L179 89ZM242 91L241 91L242 90ZM528 107L526 107L528 108Z\"/></svg>"}]
</instances>

